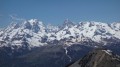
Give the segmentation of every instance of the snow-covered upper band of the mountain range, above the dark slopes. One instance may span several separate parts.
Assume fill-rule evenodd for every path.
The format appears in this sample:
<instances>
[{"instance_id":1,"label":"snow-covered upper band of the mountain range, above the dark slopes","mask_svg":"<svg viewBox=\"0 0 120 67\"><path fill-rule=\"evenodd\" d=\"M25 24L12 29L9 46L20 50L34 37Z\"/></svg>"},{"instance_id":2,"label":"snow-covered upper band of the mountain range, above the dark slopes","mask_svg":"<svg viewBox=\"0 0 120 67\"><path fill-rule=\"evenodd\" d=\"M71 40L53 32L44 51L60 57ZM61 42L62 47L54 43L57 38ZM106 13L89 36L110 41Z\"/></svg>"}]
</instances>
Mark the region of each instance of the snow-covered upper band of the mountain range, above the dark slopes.
<instances>
[{"instance_id":1,"label":"snow-covered upper band of the mountain range, above the dark slopes","mask_svg":"<svg viewBox=\"0 0 120 67\"><path fill-rule=\"evenodd\" d=\"M109 41L111 40L111 41ZM120 23L79 22L78 24L65 20L61 26L44 25L37 19L24 21L22 24L11 23L0 30L0 47L22 46L30 47L58 44L64 42L70 46L74 43L93 41L103 43L120 41Z\"/></svg>"}]
</instances>

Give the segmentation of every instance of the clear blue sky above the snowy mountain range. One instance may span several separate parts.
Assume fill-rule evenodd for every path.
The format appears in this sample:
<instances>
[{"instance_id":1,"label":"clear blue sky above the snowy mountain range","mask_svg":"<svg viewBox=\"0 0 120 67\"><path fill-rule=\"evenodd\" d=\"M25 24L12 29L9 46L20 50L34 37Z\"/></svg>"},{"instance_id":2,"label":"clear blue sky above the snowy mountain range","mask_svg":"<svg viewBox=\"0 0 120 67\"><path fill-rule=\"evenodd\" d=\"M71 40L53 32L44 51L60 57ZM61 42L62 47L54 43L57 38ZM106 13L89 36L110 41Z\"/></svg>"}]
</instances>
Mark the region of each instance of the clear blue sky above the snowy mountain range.
<instances>
[{"instance_id":1,"label":"clear blue sky above the snowy mountain range","mask_svg":"<svg viewBox=\"0 0 120 67\"><path fill-rule=\"evenodd\" d=\"M0 0L0 27L36 18L44 24L79 21L120 21L120 0Z\"/></svg>"}]
</instances>

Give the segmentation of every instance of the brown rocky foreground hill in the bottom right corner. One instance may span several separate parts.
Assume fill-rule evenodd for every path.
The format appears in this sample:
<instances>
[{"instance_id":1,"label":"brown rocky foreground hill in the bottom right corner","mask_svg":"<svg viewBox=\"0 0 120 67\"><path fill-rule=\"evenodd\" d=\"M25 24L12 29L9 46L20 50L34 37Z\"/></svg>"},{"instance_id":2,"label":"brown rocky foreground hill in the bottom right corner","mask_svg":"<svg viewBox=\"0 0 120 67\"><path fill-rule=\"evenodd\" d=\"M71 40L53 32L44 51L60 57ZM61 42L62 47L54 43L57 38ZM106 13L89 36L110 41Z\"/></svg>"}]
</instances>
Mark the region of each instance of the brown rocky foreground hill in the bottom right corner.
<instances>
[{"instance_id":1,"label":"brown rocky foreground hill in the bottom right corner","mask_svg":"<svg viewBox=\"0 0 120 67\"><path fill-rule=\"evenodd\" d=\"M120 57L110 50L97 49L68 67L120 67Z\"/></svg>"}]
</instances>

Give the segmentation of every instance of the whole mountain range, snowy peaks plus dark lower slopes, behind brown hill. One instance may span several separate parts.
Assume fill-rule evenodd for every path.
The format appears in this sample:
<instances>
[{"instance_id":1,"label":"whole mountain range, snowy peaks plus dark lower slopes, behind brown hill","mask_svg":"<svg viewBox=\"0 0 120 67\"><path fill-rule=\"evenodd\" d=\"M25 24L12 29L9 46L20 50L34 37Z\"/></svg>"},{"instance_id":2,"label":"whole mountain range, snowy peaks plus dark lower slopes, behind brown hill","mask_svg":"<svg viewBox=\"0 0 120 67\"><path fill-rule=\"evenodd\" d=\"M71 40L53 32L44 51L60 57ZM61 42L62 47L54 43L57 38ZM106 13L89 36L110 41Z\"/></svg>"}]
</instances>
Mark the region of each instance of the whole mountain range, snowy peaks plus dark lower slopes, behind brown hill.
<instances>
[{"instance_id":1,"label":"whole mountain range, snowy peaks plus dark lower slopes, behind brown hill","mask_svg":"<svg viewBox=\"0 0 120 67\"><path fill-rule=\"evenodd\" d=\"M67 19L52 26L31 19L0 29L0 67L65 67L95 48L120 55L120 23Z\"/></svg>"}]
</instances>

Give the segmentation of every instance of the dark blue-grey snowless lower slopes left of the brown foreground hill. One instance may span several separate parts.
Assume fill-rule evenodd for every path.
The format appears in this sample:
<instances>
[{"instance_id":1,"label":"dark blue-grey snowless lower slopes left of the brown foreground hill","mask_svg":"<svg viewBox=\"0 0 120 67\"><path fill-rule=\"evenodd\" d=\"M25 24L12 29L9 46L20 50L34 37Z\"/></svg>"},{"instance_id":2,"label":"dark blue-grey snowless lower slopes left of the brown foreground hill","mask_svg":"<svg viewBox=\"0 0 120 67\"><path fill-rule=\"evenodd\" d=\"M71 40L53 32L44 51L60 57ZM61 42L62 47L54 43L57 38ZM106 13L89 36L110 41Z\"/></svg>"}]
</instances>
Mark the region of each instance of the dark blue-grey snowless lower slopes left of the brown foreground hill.
<instances>
[{"instance_id":1,"label":"dark blue-grey snowless lower slopes left of the brown foreground hill","mask_svg":"<svg viewBox=\"0 0 120 67\"><path fill-rule=\"evenodd\" d=\"M4 47L0 50L0 67L65 67L91 50L84 45L47 45L29 51Z\"/></svg>"}]
</instances>

